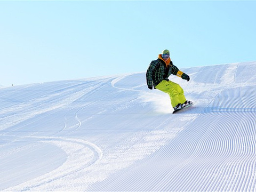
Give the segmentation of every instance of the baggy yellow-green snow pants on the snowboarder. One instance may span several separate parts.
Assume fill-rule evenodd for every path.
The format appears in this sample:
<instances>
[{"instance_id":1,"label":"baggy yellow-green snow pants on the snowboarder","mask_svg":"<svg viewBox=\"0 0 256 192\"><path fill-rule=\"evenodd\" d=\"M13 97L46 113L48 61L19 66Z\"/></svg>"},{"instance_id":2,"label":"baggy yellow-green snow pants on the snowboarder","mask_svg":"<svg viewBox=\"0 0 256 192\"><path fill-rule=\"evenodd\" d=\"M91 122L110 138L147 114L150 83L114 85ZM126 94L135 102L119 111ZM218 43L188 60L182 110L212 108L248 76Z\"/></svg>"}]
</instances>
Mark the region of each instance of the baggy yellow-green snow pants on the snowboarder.
<instances>
[{"instance_id":1,"label":"baggy yellow-green snow pants on the snowboarder","mask_svg":"<svg viewBox=\"0 0 256 192\"><path fill-rule=\"evenodd\" d=\"M184 91L181 86L177 83L163 80L158 85L156 85L156 89L163 91L169 94L172 107L177 106L179 103L184 103L186 101Z\"/></svg>"}]
</instances>

